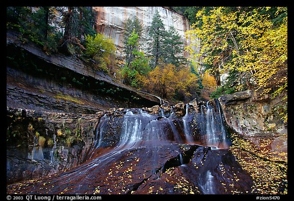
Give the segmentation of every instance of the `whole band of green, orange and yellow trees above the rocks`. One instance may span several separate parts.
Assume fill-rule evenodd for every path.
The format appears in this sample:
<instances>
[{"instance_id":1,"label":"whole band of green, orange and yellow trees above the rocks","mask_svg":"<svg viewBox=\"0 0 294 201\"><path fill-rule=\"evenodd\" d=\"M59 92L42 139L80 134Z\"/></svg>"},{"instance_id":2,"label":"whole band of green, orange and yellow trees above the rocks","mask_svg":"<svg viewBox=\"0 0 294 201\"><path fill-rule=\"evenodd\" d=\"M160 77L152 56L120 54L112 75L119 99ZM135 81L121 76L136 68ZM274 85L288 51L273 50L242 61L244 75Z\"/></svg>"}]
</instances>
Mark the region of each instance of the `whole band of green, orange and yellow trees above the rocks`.
<instances>
[{"instance_id":1,"label":"whole band of green, orange and yellow trees above the rocks","mask_svg":"<svg viewBox=\"0 0 294 201\"><path fill-rule=\"evenodd\" d=\"M119 61L119 66L113 42L95 31L91 7L7 7L7 28L19 31L21 42L31 40L46 54L75 55L95 71L109 73L115 66L112 73L118 72L123 83L165 98L185 100L198 96L201 88L208 94L215 89L211 98L248 89L273 97L287 93L286 7L172 8L191 24L186 32L189 65L181 56L184 44L177 30L166 30L158 11L146 52L139 19L126 21L125 63ZM220 83L224 73L225 82ZM287 103L287 96L283 101ZM281 114L287 121L286 109Z\"/></svg>"}]
</instances>

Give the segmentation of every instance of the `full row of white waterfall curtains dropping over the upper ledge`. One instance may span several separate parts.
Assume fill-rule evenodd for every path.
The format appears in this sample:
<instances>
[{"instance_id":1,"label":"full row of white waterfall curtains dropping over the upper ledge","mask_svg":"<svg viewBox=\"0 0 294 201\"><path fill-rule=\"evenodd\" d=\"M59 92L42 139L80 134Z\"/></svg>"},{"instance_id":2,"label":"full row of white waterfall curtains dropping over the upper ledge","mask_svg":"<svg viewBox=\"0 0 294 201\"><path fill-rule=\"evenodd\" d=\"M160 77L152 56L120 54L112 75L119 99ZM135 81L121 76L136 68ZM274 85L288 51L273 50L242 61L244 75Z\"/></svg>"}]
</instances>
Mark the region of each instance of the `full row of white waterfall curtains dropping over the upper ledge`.
<instances>
[{"instance_id":1,"label":"full row of white waterfall curtains dropping over the upper ledge","mask_svg":"<svg viewBox=\"0 0 294 201\"><path fill-rule=\"evenodd\" d=\"M133 148L139 146L155 146L162 143L186 143L194 144L194 137L190 129L192 119L197 117L197 132L201 135L201 143L205 146L215 148L227 148L226 145L226 129L220 110L218 101L215 101L215 106L210 102L200 105L200 113L189 114L189 103L185 104L185 115L181 118L181 124L177 126L177 115L174 115L174 108L171 107L169 114L164 114L162 108L159 109L158 115L149 114L142 109L125 110L122 116L121 130L118 131L120 136L116 141L115 150ZM104 147L103 139L106 138L107 129L109 128L110 119L104 115L96 129L94 148ZM121 116L120 116L121 118ZM193 125L191 125L193 127ZM182 129L181 130L179 130ZM181 136L182 133L183 135ZM196 137L197 138L197 137Z\"/></svg>"}]
</instances>

